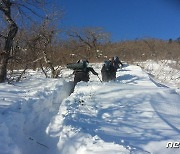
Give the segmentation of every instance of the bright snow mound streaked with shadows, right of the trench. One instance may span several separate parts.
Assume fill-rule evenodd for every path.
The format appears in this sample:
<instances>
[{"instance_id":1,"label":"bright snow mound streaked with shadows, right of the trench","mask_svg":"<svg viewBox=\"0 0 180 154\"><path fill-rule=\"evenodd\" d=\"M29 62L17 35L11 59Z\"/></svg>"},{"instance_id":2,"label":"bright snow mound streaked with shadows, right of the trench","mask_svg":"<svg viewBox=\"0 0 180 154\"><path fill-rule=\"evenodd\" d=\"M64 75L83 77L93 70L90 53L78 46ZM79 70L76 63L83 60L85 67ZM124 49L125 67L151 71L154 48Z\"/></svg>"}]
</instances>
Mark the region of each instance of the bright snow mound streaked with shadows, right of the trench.
<instances>
[{"instance_id":1,"label":"bright snow mound streaked with shadows, right of the trench","mask_svg":"<svg viewBox=\"0 0 180 154\"><path fill-rule=\"evenodd\" d=\"M137 66L127 66L117 76L103 84L92 76L61 104L49 125L50 134L61 130L53 134L60 136L61 153L98 153L94 147L99 153L179 153L166 143L180 140L180 96L157 87ZM92 146L94 140L99 142Z\"/></svg>"}]
</instances>

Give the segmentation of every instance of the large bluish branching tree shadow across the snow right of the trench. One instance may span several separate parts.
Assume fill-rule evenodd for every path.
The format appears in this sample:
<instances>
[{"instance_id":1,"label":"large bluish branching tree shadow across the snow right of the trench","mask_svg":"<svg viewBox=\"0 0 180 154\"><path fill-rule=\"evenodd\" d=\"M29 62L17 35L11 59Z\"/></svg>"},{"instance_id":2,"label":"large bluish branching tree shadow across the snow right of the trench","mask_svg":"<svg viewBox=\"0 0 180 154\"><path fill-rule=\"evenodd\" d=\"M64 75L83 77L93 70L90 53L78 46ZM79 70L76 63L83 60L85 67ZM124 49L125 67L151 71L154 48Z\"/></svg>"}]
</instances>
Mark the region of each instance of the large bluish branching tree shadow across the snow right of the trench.
<instances>
[{"instance_id":1,"label":"large bluish branching tree shadow across the snow right of the trench","mask_svg":"<svg viewBox=\"0 0 180 154\"><path fill-rule=\"evenodd\" d=\"M75 110L66 117L65 123L77 129L81 128L82 132L92 136L97 135L105 142L143 150L141 146L151 141L170 139L168 133L164 133L168 131L167 128L154 127L158 115L153 110L143 110L142 105L151 106L146 102L146 97L147 95L139 94L115 100L106 108L96 108L96 105L91 106L86 102L82 105L76 100L76 107L73 107Z\"/></svg>"}]
</instances>

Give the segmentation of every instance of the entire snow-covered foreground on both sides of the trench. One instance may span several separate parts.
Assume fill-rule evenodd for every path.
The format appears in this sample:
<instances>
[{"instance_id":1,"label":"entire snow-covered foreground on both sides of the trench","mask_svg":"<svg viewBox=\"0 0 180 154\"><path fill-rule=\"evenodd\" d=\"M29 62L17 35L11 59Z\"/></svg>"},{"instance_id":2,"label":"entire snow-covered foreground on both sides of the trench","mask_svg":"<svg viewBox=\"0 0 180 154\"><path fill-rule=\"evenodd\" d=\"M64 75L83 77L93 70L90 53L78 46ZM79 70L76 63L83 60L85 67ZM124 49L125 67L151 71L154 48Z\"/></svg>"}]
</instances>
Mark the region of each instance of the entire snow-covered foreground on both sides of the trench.
<instances>
[{"instance_id":1,"label":"entire snow-covered foreground on both sides of the trench","mask_svg":"<svg viewBox=\"0 0 180 154\"><path fill-rule=\"evenodd\" d=\"M100 74L101 64L93 64ZM0 84L0 154L178 154L180 95L139 66L117 80L91 75L70 96L71 70L61 79L29 71L22 82ZM99 75L100 76L100 75ZM101 76L100 76L101 77Z\"/></svg>"}]
</instances>

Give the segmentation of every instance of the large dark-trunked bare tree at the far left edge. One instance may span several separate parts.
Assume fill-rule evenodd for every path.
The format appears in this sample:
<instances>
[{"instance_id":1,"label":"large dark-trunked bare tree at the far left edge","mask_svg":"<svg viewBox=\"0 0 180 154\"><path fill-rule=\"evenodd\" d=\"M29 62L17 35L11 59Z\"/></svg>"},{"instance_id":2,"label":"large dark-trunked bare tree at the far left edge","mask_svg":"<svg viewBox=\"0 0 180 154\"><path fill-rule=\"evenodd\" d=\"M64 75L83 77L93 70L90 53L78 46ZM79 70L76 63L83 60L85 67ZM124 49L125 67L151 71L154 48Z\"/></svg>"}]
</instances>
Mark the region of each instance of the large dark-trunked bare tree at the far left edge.
<instances>
[{"instance_id":1,"label":"large dark-trunked bare tree at the far left edge","mask_svg":"<svg viewBox=\"0 0 180 154\"><path fill-rule=\"evenodd\" d=\"M7 66L12 56L13 41L18 32L16 19L18 17L30 19L29 16L43 15L36 13L36 9L40 9L46 0L0 0L1 22L4 23L4 30L1 30L0 37L4 39L3 50L0 52L0 83L4 82L7 77ZM25 11L27 10L27 11ZM28 13L27 13L28 12Z\"/></svg>"}]
</instances>

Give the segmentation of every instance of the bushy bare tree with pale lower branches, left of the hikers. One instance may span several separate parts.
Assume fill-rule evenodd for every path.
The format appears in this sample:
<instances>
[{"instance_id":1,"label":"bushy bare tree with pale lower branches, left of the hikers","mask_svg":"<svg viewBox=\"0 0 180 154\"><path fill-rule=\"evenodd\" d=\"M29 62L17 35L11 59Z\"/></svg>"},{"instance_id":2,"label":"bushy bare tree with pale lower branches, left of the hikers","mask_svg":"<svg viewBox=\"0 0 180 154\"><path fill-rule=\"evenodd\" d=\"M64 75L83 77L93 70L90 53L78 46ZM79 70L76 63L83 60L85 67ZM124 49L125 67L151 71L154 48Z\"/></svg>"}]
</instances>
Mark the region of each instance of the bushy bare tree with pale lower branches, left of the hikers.
<instances>
[{"instance_id":1,"label":"bushy bare tree with pale lower branches, left of the hikers","mask_svg":"<svg viewBox=\"0 0 180 154\"><path fill-rule=\"evenodd\" d=\"M24 54L26 61L29 64L33 64L33 68L37 68L34 64L39 63L39 67L42 68L46 77L49 77L43 69L47 67L51 70L51 77L56 78L58 76L59 70L55 69L54 61L51 57L54 54L56 45L56 35L60 31L56 26L51 24L51 20L45 19L39 25L33 25L29 28L30 31L25 31L26 35L23 39L23 44L21 45L22 51L21 55ZM56 56L57 57L57 56ZM23 57L21 56L21 59Z\"/></svg>"}]
</instances>

